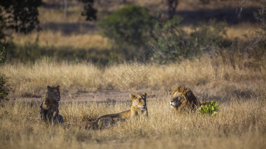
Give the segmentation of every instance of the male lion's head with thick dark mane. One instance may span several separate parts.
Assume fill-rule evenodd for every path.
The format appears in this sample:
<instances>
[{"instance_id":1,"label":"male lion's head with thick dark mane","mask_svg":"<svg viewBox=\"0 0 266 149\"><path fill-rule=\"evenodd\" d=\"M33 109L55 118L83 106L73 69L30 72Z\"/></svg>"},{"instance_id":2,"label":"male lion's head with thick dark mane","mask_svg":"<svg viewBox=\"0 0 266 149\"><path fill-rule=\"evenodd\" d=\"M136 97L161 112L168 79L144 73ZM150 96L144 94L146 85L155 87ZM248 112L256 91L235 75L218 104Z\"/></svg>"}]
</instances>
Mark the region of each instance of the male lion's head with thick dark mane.
<instances>
[{"instance_id":1,"label":"male lion's head with thick dark mane","mask_svg":"<svg viewBox=\"0 0 266 149\"><path fill-rule=\"evenodd\" d=\"M173 89L170 106L177 111L194 110L199 102L193 92L185 86Z\"/></svg>"}]
</instances>

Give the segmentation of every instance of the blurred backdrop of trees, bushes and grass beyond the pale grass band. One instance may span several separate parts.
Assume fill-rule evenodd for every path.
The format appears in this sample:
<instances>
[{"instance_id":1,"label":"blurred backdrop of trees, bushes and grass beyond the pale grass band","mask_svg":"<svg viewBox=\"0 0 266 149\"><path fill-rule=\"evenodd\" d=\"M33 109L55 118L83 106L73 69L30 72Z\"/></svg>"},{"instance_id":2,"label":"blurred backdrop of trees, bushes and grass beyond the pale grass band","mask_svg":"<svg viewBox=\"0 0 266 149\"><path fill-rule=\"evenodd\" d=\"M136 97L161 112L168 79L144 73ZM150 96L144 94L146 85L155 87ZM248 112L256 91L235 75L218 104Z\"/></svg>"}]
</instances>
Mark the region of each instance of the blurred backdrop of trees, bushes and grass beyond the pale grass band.
<instances>
[{"instance_id":1,"label":"blurred backdrop of trees, bushes and grass beyond the pale grass band","mask_svg":"<svg viewBox=\"0 0 266 149\"><path fill-rule=\"evenodd\" d=\"M8 63L117 64L151 45L161 64L203 54L265 62L265 8L265 0L5 0L0 46Z\"/></svg>"}]
</instances>

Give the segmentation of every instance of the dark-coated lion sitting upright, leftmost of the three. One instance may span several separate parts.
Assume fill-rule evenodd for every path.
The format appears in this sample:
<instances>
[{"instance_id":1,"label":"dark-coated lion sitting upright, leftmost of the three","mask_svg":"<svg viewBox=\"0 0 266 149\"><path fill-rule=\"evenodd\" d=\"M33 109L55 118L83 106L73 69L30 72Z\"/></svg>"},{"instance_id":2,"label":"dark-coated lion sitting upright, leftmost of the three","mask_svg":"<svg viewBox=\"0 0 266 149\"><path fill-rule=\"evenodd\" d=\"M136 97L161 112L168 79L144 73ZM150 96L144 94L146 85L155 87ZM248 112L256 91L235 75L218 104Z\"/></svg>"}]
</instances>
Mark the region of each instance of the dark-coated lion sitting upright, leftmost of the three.
<instances>
[{"instance_id":1,"label":"dark-coated lion sitting upright, leftmost of the three","mask_svg":"<svg viewBox=\"0 0 266 149\"><path fill-rule=\"evenodd\" d=\"M64 119L63 116L58 114L59 113L59 101L60 97L60 89L59 85L54 87L47 86L47 93L40 105L40 114L41 119L45 122L50 123L63 123Z\"/></svg>"}]
</instances>

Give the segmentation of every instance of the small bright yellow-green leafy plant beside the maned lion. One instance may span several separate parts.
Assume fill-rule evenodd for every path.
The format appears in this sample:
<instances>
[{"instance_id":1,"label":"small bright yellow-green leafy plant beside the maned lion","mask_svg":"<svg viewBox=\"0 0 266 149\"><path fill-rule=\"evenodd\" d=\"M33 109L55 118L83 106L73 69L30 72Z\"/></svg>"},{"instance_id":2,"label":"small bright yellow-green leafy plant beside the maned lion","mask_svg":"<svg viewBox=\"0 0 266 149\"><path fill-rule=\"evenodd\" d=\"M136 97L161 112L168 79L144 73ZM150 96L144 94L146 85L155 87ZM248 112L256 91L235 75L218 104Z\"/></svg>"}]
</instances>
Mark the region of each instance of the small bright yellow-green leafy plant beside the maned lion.
<instances>
[{"instance_id":1,"label":"small bright yellow-green leafy plant beside the maned lion","mask_svg":"<svg viewBox=\"0 0 266 149\"><path fill-rule=\"evenodd\" d=\"M216 115L218 110L219 110L220 106L217 104L217 102L213 102L211 101L211 104L206 104L203 105L200 110L198 110L198 113L202 114L202 115L209 115L209 116L213 116Z\"/></svg>"}]
</instances>

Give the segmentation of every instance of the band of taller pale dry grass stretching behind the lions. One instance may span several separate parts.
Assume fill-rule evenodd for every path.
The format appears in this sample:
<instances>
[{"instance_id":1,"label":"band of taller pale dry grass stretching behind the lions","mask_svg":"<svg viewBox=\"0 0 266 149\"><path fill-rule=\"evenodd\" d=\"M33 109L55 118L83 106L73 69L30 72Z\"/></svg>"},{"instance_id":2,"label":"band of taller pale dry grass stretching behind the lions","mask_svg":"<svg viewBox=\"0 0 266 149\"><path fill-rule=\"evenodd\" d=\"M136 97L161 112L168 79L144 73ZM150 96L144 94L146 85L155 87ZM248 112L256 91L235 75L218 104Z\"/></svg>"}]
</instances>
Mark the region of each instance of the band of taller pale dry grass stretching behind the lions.
<instances>
[{"instance_id":1,"label":"band of taller pale dry grass stretching behind the lions","mask_svg":"<svg viewBox=\"0 0 266 149\"><path fill-rule=\"evenodd\" d=\"M228 57L228 58L224 58ZM8 85L13 88L13 96L39 96L47 85L60 84L62 91L77 92L113 88L116 90L166 90L177 84L205 86L220 90L220 85L236 86L245 84L247 89L266 88L265 62L229 55L201 59L184 60L168 65L131 64L112 65L99 68L91 63L72 64L57 63L55 60L43 59L32 65L9 63L0 67L0 72L11 77ZM257 66L257 69L247 67ZM253 66L252 65L252 66ZM143 72L137 72L141 71ZM256 85L257 87L254 87Z\"/></svg>"}]
</instances>

